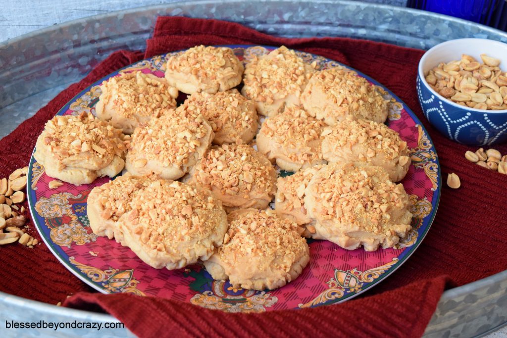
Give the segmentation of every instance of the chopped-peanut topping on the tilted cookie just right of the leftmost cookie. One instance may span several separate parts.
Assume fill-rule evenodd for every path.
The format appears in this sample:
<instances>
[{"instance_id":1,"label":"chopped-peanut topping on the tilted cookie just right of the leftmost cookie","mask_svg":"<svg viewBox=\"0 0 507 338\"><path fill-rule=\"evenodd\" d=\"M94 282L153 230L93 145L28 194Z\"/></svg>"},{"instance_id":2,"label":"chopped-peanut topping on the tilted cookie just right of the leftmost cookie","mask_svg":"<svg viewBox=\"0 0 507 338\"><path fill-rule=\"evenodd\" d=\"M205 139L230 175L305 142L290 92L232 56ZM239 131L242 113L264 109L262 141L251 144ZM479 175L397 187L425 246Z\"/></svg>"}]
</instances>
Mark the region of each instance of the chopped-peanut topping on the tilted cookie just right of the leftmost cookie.
<instances>
[{"instance_id":1,"label":"chopped-peanut topping on the tilted cookie just right of the leftmost cookie","mask_svg":"<svg viewBox=\"0 0 507 338\"><path fill-rule=\"evenodd\" d=\"M146 160L156 160L164 166L183 167L204 142L210 128L202 115L188 110L186 106L168 109L147 126L136 128L129 156L136 158L139 155L144 164Z\"/></svg>"}]
</instances>

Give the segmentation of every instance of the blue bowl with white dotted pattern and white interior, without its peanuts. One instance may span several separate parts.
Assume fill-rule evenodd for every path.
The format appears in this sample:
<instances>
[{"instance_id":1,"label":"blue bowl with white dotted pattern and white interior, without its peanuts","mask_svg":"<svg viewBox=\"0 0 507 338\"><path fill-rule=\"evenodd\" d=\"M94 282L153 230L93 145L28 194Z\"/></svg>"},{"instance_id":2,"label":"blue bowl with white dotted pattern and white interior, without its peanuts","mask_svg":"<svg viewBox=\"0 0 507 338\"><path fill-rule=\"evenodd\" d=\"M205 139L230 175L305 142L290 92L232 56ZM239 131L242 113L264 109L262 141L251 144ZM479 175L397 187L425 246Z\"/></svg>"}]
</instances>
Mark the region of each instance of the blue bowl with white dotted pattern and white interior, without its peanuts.
<instances>
[{"instance_id":1,"label":"blue bowl with white dotted pattern and white interior, without its peanuts","mask_svg":"<svg viewBox=\"0 0 507 338\"><path fill-rule=\"evenodd\" d=\"M480 54L500 59L507 71L507 44L486 39L458 39L434 46L419 61L417 96L424 116L451 140L470 145L491 145L507 141L507 109L482 110L464 107L446 99L431 87L424 76L440 62L460 60L461 54Z\"/></svg>"}]
</instances>

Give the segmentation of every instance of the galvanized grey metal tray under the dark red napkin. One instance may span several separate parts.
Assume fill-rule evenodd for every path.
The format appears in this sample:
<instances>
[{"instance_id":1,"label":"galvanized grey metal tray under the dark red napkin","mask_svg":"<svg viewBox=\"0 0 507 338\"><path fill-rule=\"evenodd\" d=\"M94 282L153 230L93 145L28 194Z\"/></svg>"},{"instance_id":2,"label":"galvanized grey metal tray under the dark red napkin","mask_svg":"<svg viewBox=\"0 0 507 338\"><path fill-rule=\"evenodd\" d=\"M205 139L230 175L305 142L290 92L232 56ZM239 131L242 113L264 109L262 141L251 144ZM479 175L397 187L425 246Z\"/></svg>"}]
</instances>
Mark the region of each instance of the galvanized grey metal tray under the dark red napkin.
<instances>
[{"instance_id":1,"label":"galvanized grey metal tray under the dark red napkin","mask_svg":"<svg viewBox=\"0 0 507 338\"><path fill-rule=\"evenodd\" d=\"M0 43L0 137L58 92L81 80L119 49L146 47L156 18L183 15L235 21L286 37L346 36L428 49L461 37L507 42L507 34L472 22L401 7L348 1L195 1L143 7L51 26ZM27 81L29 79L29 81ZM58 84L55 86L55 84ZM56 111L55 111L56 114ZM115 322L111 316L59 308L0 293L0 312L37 322ZM507 324L507 271L444 292L425 336L477 336ZM96 329L61 329L54 336L88 336ZM37 329L34 334L48 334ZM127 329L105 336L134 336ZM6 335L7 334L7 335ZM4 336L26 331L5 330Z\"/></svg>"}]
</instances>

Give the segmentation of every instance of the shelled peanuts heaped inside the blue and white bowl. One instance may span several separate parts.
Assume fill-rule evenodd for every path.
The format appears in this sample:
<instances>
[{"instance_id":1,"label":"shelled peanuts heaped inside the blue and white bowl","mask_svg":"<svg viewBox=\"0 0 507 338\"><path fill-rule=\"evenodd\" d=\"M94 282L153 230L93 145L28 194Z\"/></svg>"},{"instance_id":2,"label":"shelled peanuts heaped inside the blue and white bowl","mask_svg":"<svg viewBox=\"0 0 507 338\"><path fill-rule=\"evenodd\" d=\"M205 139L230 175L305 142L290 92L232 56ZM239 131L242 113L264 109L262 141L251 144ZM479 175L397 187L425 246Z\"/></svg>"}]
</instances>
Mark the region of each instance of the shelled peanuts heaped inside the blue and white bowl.
<instances>
[{"instance_id":1,"label":"shelled peanuts heaped inside the blue and white bowl","mask_svg":"<svg viewBox=\"0 0 507 338\"><path fill-rule=\"evenodd\" d=\"M500 60L481 54L482 63L469 55L441 62L426 74L434 91L451 101L476 109L507 109L507 72Z\"/></svg>"}]
</instances>

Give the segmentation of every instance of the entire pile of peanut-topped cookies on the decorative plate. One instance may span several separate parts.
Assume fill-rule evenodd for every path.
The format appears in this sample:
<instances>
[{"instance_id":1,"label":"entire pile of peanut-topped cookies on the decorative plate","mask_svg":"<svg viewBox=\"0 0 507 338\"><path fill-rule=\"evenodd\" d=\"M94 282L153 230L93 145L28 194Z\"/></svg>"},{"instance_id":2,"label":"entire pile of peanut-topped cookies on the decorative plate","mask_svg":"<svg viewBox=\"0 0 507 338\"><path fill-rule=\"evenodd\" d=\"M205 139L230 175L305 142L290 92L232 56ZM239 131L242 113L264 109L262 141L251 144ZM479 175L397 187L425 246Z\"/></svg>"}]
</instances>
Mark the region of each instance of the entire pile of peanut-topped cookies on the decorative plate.
<instances>
[{"instance_id":1,"label":"entire pile of peanut-topped cookies on the decorative plate","mask_svg":"<svg viewBox=\"0 0 507 338\"><path fill-rule=\"evenodd\" d=\"M243 65L197 46L171 56L165 78L104 81L96 117L55 117L34 156L73 184L125 169L89 194L90 227L148 265L202 261L234 287L281 287L310 260L305 237L374 251L411 228L396 183L409 149L384 124L387 101L353 71L315 67L285 47Z\"/></svg>"}]
</instances>

